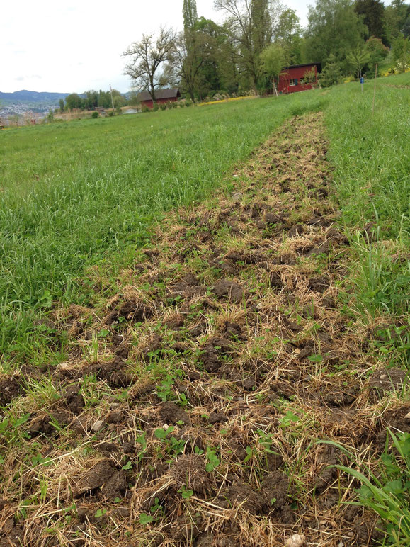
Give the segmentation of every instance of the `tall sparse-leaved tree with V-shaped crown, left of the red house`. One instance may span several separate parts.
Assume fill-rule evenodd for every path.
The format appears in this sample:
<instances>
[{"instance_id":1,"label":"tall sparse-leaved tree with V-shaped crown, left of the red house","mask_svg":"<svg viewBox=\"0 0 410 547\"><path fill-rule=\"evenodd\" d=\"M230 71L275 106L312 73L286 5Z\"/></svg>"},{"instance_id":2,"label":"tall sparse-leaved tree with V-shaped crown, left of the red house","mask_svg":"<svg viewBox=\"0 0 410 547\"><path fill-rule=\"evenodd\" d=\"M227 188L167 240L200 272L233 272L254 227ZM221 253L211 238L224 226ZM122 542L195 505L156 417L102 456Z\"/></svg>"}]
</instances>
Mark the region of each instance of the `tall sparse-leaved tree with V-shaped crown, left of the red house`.
<instances>
[{"instance_id":1,"label":"tall sparse-leaved tree with V-shaped crown, left of the red house","mask_svg":"<svg viewBox=\"0 0 410 547\"><path fill-rule=\"evenodd\" d=\"M236 46L236 62L256 88L259 56L271 43L281 12L278 0L215 0L214 5L227 15L226 28Z\"/></svg>"}]
</instances>

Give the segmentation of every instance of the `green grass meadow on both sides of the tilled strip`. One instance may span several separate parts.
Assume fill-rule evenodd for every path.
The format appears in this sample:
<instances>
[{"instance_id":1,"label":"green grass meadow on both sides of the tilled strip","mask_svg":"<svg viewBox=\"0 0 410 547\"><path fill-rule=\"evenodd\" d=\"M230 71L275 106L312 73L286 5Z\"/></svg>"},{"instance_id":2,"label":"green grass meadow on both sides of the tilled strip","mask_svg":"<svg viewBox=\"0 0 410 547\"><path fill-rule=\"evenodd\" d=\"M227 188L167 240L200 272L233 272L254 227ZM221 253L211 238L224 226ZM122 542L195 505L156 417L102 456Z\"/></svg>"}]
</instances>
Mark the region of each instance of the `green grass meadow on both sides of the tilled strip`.
<instances>
[{"instance_id":1,"label":"green grass meadow on both sides of the tilled strip","mask_svg":"<svg viewBox=\"0 0 410 547\"><path fill-rule=\"evenodd\" d=\"M41 337L34 317L54 300L86 302L85 268L132 261L163 211L207 196L235 162L304 111L326 109L343 221L376 221L377 237L399 249L409 234L410 104L406 89L385 84L406 81L409 74L379 79L374 113L368 81L363 94L351 83L278 100L2 132L1 353L31 353ZM389 265L385 248L371 252L359 298L370 308L402 308L407 272Z\"/></svg>"}]
</instances>

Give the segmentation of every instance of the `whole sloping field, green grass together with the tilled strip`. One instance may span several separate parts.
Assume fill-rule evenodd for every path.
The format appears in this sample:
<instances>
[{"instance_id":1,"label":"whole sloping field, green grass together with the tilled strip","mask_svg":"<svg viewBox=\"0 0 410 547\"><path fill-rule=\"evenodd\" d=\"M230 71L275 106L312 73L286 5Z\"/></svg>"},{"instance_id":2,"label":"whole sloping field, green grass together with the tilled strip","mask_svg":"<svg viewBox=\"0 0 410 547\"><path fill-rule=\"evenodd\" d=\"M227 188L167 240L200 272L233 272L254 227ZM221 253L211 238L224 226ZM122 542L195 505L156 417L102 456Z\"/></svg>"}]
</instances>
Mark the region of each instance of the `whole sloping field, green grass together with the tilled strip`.
<instances>
[{"instance_id":1,"label":"whole sloping field, green grass together with the tilled strip","mask_svg":"<svg viewBox=\"0 0 410 547\"><path fill-rule=\"evenodd\" d=\"M409 545L403 81L0 132L0 543Z\"/></svg>"}]
</instances>

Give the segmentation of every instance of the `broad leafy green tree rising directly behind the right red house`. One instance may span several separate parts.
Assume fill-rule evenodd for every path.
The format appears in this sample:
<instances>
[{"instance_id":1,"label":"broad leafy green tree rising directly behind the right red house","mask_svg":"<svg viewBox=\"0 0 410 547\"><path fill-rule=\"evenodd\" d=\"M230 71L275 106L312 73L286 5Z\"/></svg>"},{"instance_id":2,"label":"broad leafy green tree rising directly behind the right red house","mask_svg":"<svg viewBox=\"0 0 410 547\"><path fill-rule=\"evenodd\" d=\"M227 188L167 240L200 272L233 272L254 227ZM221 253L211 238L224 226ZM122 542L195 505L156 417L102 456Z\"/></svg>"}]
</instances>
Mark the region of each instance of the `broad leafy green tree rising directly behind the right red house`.
<instances>
[{"instance_id":1,"label":"broad leafy green tree rising directly behind the right red house","mask_svg":"<svg viewBox=\"0 0 410 547\"><path fill-rule=\"evenodd\" d=\"M340 64L349 52L363 44L365 30L351 0L317 0L316 6L309 6L307 61L324 65L334 55Z\"/></svg>"}]
</instances>

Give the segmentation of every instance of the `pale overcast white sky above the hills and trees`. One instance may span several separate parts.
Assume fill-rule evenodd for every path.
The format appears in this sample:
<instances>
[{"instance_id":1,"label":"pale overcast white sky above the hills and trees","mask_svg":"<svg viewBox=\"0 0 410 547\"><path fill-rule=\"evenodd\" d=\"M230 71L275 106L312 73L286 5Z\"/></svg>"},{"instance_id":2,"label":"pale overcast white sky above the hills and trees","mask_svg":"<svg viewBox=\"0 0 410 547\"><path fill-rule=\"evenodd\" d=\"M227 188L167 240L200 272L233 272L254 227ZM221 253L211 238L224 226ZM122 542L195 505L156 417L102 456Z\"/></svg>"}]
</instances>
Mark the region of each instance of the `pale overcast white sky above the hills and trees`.
<instances>
[{"instance_id":1,"label":"pale overcast white sky above the hills and trees","mask_svg":"<svg viewBox=\"0 0 410 547\"><path fill-rule=\"evenodd\" d=\"M307 23L309 0L283 0ZM20 0L1 6L0 91L83 93L130 90L122 53L159 26L182 30L183 0ZM198 16L221 21L213 0L197 0Z\"/></svg>"}]
</instances>

